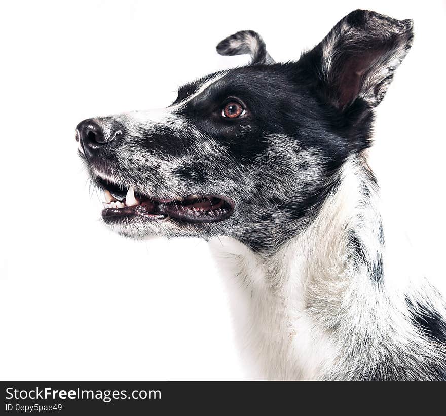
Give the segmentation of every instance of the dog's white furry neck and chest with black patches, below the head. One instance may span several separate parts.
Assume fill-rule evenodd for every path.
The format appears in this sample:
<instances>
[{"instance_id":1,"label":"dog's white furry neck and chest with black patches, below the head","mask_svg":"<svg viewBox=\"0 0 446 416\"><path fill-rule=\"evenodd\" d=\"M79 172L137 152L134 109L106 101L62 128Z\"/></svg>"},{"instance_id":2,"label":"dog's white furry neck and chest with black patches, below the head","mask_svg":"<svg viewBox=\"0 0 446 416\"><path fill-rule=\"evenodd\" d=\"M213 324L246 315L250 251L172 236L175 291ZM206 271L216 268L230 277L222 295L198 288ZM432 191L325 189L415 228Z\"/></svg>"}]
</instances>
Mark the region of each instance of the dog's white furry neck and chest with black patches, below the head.
<instances>
[{"instance_id":1,"label":"dog's white furry neck and chest with black patches, below the head","mask_svg":"<svg viewBox=\"0 0 446 416\"><path fill-rule=\"evenodd\" d=\"M432 290L423 288L421 297L387 285L377 195L364 160L350 159L309 228L273 255L231 239L211 241L231 276L249 376L432 379L432 366L446 365L446 353L423 337L407 310L407 293L428 298ZM446 309L438 313L446 318Z\"/></svg>"}]
</instances>

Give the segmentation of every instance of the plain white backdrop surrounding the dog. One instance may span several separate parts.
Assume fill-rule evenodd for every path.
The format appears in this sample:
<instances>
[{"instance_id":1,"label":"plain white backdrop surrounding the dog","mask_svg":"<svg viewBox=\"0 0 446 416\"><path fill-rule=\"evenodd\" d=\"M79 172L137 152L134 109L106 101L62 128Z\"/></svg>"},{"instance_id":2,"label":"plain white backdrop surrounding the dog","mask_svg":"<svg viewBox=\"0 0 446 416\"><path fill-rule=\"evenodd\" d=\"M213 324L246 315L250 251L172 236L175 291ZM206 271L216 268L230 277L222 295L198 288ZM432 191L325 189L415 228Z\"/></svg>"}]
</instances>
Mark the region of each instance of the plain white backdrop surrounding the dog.
<instances>
[{"instance_id":1,"label":"plain white backdrop surrounding the dog","mask_svg":"<svg viewBox=\"0 0 446 416\"><path fill-rule=\"evenodd\" d=\"M383 199L444 284L444 2L8 2L2 6L1 379L237 379L228 294L200 240L110 233L76 155L83 119L163 107L247 61L215 45L257 30L298 59L344 15L415 20L378 109Z\"/></svg>"}]
</instances>

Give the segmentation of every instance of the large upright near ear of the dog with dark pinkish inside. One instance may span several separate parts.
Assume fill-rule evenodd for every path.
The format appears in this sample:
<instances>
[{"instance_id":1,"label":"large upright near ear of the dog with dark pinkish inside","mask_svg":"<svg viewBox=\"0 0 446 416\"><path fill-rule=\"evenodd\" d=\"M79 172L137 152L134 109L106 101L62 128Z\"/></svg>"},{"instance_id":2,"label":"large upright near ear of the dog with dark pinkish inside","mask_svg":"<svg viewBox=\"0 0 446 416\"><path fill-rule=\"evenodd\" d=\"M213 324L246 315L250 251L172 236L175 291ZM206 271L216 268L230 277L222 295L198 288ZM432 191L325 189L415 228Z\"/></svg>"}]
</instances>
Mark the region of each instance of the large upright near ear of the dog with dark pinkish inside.
<instances>
[{"instance_id":1,"label":"large upright near ear of the dog with dark pinkish inside","mask_svg":"<svg viewBox=\"0 0 446 416\"><path fill-rule=\"evenodd\" d=\"M412 20L355 10L299 62L325 101L343 110L361 98L373 108L383 99L412 40Z\"/></svg>"}]
</instances>

